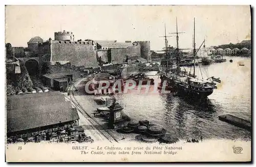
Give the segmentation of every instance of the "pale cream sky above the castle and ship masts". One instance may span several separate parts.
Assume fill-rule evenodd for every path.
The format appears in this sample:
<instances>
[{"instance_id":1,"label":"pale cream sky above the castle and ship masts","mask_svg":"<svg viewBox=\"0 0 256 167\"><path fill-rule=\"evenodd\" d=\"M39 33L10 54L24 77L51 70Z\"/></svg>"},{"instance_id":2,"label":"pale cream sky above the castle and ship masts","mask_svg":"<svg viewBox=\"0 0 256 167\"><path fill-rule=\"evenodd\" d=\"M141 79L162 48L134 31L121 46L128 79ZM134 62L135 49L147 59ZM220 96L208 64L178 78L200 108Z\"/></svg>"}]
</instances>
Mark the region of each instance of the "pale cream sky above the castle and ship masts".
<instances>
[{"instance_id":1,"label":"pale cream sky above the castle and ship masts","mask_svg":"<svg viewBox=\"0 0 256 167\"><path fill-rule=\"evenodd\" d=\"M206 47L250 40L249 6L6 6L6 43L26 47L34 36L54 39L66 30L75 40L148 40L160 51L164 23L167 33L176 32L176 17L184 49L193 47L194 17L197 47L204 39ZM176 38L168 43L176 46Z\"/></svg>"}]
</instances>

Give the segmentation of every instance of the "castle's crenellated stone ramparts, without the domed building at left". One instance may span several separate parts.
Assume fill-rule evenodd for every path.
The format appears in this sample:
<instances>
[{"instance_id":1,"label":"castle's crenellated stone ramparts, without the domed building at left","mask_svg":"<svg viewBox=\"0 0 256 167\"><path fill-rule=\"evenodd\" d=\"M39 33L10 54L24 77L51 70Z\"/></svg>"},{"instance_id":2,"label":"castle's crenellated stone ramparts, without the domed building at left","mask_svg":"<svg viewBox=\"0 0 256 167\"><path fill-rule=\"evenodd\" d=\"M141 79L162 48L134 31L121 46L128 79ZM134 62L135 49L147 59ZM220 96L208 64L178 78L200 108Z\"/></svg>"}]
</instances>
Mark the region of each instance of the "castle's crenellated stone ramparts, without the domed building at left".
<instances>
[{"instance_id":1,"label":"castle's crenellated stone ramparts, without the domed building at left","mask_svg":"<svg viewBox=\"0 0 256 167\"><path fill-rule=\"evenodd\" d=\"M72 32L57 32L55 35L63 36L61 40L51 40L38 44L38 55L42 61L70 61L72 65L84 67L98 67L98 60L113 64L123 63L126 59L136 60L145 58L151 62L150 41L134 42L134 46L126 48L112 48L109 50L94 50L94 42L64 41L65 36L72 36Z\"/></svg>"}]
</instances>

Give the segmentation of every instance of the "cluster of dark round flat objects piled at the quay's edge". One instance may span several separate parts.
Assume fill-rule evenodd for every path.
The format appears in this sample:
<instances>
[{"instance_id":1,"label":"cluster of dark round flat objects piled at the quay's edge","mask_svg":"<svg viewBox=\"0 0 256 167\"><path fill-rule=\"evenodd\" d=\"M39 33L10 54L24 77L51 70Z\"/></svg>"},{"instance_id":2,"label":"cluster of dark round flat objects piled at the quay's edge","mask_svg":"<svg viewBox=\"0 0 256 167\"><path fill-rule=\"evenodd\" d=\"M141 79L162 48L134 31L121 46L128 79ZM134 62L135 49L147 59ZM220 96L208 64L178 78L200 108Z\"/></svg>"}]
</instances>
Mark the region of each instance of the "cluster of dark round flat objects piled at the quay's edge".
<instances>
[{"instance_id":1,"label":"cluster of dark round flat objects piled at the quay's edge","mask_svg":"<svg viewBox=\"0 0 256 167\"><path fill-rule=\"evenodd\" d=\"M139 140L145 142L163 142L163 143L174 143L179 139L172 134L167 134L166 130L158 125L150 124L149 121L130 121L127 126L121 128L124 133L138 133L141 134Z\"/></svg>"}]
</instances>

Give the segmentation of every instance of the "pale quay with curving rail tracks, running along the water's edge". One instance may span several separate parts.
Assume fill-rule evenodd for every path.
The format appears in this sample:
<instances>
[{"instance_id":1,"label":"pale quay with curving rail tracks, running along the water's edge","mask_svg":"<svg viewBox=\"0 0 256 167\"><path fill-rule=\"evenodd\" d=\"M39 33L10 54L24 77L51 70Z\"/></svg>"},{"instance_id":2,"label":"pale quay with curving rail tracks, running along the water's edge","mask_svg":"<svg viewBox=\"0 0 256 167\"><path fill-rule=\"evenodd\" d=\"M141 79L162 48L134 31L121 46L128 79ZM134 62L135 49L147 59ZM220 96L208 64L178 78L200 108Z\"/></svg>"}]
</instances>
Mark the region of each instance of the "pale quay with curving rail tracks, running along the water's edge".
<instances>
[{"instance_id":1,"label":"pale quay with curving rail tracks, running along the water's edge","mask_svg":"<svg viewBox=\"0 0 256 167\"><path fill-rule=\"evenodd\" d=\"M98 100L101 96L84 95L79 90L83 87L83 80L80 79L74 83L78 91L71 89L69 95L66 96L66 100L71 101L72 105L77 108L78 114L81 120L89 120L90 124L93 124L93 129L88 129L88 126L80 124L87 134L90 134L95 141L101 136L103 140L109 140L110 142L125 142L125 141L143 141L143 142L156 142L161 140L165 143L173 143L178 139L170 134L166 134L166 130L161 126L150 124L148 121L124 120L122 107L116 103L115 108L121 107L122 119L110 126L111 112L110 111L97 111L98 108L108 108L105 104L99 104L95 100ZM80 87L81 86L81 87ZM111 108L111 107L109 107ZM113 111L112 109L111 111ZM119 110L118 110L119 111ZM107 116L107 114L110 114ZM104 116L105 114L105 116ZM127 116L127 115L126 115ZM89 133L91 131L91 133ZM165 135L166 134L166 135ZM170 137L172 136L172 137ZM163 138L161 138L163 137ZM101 140L101 139L100 139Z\"/></svg>"}]
</instances>

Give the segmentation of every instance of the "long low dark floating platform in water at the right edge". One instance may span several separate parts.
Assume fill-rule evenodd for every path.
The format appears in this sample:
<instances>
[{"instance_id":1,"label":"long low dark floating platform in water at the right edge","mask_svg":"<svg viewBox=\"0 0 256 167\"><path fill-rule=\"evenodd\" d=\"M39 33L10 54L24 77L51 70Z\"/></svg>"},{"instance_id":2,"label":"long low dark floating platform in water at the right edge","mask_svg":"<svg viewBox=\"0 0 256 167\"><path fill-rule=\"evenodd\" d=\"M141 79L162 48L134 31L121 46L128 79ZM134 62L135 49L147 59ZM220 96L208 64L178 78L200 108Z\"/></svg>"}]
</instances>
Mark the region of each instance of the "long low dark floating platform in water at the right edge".
<instances>
[{"instance_id":1,"label":"long low dark floating platform in water at the right edge","mask_svg":"<svg viewBox=\"0 0 256 167\"><path fill-rule=\"evenodd\" d=\"M220 115L219 120L224 121L226 123L232 124L239 128L244 128L246 130L251 130L251 123L243 118L233 116L230 114Z\"/></svg>"}]
</instances>

